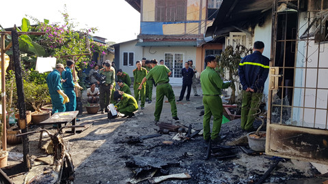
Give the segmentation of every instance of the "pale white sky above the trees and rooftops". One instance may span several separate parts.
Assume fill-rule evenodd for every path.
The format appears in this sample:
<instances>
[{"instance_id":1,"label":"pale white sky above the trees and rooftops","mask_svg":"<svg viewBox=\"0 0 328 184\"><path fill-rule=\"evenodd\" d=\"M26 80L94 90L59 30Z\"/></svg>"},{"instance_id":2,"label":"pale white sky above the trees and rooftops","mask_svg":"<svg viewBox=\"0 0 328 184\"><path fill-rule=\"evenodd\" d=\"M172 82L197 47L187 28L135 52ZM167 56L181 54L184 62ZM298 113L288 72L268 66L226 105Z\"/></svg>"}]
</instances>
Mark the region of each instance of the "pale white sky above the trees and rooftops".
<instances>
[{"instance_id":1,"label":"pale white sky above the trees and rooftops","mask_svg":"<svg viewBox=\"0 0 328 184\"><path fill-rule=\"evenodd\" d=\"M38 20L48 19L52 22L63 22L61 12L67 12L73 22L79 22L79 28L96 27L95 36L105 37L106 42L125 42L137 38L140 30L140 13L124 0L13 0L6 3L0 11L0 25L3 28L20 26L25 15ZM12 8L15 12L12 12Z\"/></svg>"}]
</instances>

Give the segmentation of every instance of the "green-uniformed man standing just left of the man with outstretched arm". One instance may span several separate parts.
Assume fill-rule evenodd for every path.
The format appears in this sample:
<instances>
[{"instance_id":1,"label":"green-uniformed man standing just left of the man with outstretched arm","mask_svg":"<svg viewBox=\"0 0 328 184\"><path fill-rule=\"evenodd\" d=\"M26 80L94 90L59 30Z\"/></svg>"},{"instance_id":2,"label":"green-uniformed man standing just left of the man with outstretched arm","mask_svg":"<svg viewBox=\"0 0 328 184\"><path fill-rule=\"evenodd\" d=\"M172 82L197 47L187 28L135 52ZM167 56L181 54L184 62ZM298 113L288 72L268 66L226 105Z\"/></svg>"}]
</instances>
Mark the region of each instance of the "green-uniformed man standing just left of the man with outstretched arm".
<instances>
[{"instance_id":1,"label":"green-uniformed man standing just left of the man with outstretched arm","mask_svg":"<svg viewBox=\"0 0 328 184\"><path fill-rule=\"evenodd\" d=\"M133 70L133 77L135 78L135 82L133 83L133 89L135 91L135 99L139 99L139 95L141 97L141 109L145 107L145 102L146 102L146 84L143 84L140 89L138 89L141 81L143 80L144 77L147 75L147 70L144 67L141 67L140 61L137 61L135 63L137 65L137 68ZM141 85L140 85L141 86Z\"/></svg>"}]
</instances>

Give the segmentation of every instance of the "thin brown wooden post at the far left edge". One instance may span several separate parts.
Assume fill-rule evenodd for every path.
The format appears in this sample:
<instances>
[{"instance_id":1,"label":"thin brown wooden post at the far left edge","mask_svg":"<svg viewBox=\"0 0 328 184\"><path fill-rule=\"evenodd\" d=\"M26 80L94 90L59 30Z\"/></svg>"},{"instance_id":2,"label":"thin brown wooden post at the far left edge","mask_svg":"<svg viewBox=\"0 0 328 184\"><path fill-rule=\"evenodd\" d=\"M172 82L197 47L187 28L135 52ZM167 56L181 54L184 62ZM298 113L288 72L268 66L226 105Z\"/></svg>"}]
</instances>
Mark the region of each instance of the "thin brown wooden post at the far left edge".
<instances>
[{"instance_id":1,"label":"thin brown wooden post at the far left edge","mask_svg":"<svg viewBox=\"0 0 328 184\"><path fill-rule=\"evenodd\" d=\"M5 125L5 35L1 35L1 102L2 102L2 149L7 150L7 127Z\"/></svg>"}]
</instances>

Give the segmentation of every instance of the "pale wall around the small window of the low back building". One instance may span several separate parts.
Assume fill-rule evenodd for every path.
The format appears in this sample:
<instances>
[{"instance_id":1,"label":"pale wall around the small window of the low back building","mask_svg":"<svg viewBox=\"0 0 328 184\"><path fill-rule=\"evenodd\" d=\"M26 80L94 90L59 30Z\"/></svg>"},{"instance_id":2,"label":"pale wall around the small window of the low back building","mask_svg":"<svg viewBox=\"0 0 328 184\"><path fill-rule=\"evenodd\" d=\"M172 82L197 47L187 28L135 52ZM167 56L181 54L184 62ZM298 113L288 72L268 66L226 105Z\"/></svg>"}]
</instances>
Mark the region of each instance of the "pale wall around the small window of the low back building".
<instances>
[{"instance_id":1,"label":"pale wall around the small window of the low back building","mask_svg":"<svg viewBox=\"0 0 328 184\"><path fill-rule=\"evenodd\" d=\"M135 61L140 60L143 57L143 48L141 46L135 46L137 44L137 40L132 40L130 42L124 42L120 44L120 69L123 72L128 73L130 77L133 77L133 70L135 70ZM123 52L134 52L134 62L133 66L124 66L123 65ZM117 62L117 61L115 61Z\"/></svg>"}]
</instances>

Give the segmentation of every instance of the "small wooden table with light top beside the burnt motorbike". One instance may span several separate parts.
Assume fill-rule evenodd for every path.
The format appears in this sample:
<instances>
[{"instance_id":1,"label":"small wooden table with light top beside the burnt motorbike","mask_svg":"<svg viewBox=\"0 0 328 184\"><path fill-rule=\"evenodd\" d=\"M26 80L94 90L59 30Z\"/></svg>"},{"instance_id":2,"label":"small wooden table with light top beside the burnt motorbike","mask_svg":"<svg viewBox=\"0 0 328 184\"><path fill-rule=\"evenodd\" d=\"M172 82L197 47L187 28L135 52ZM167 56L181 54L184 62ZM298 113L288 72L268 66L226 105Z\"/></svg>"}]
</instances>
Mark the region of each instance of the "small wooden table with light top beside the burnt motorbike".
<instances>
[{"instance_id":1,"label":"small wooden table with light top beside the burnt motorbike","mask_svg":"<svg viewBox=\"0 0 328 184\"><path fill-rule=\"evenodd\" d=\"M75 125L77 123L77 114L79 114L78 110L68 111L68 112L56 112L49 119L40 122L38 125L44 128L44 125L57 124L57 129L61 128L62 123L66 125L67 123L72 122L72 125ZM75 134L74 127L72 127L72 133ZM42 142L42 132L40 132L40 139L38 144L39 148L41 147L41 142Z\"/></svg>"}]
</instances>

